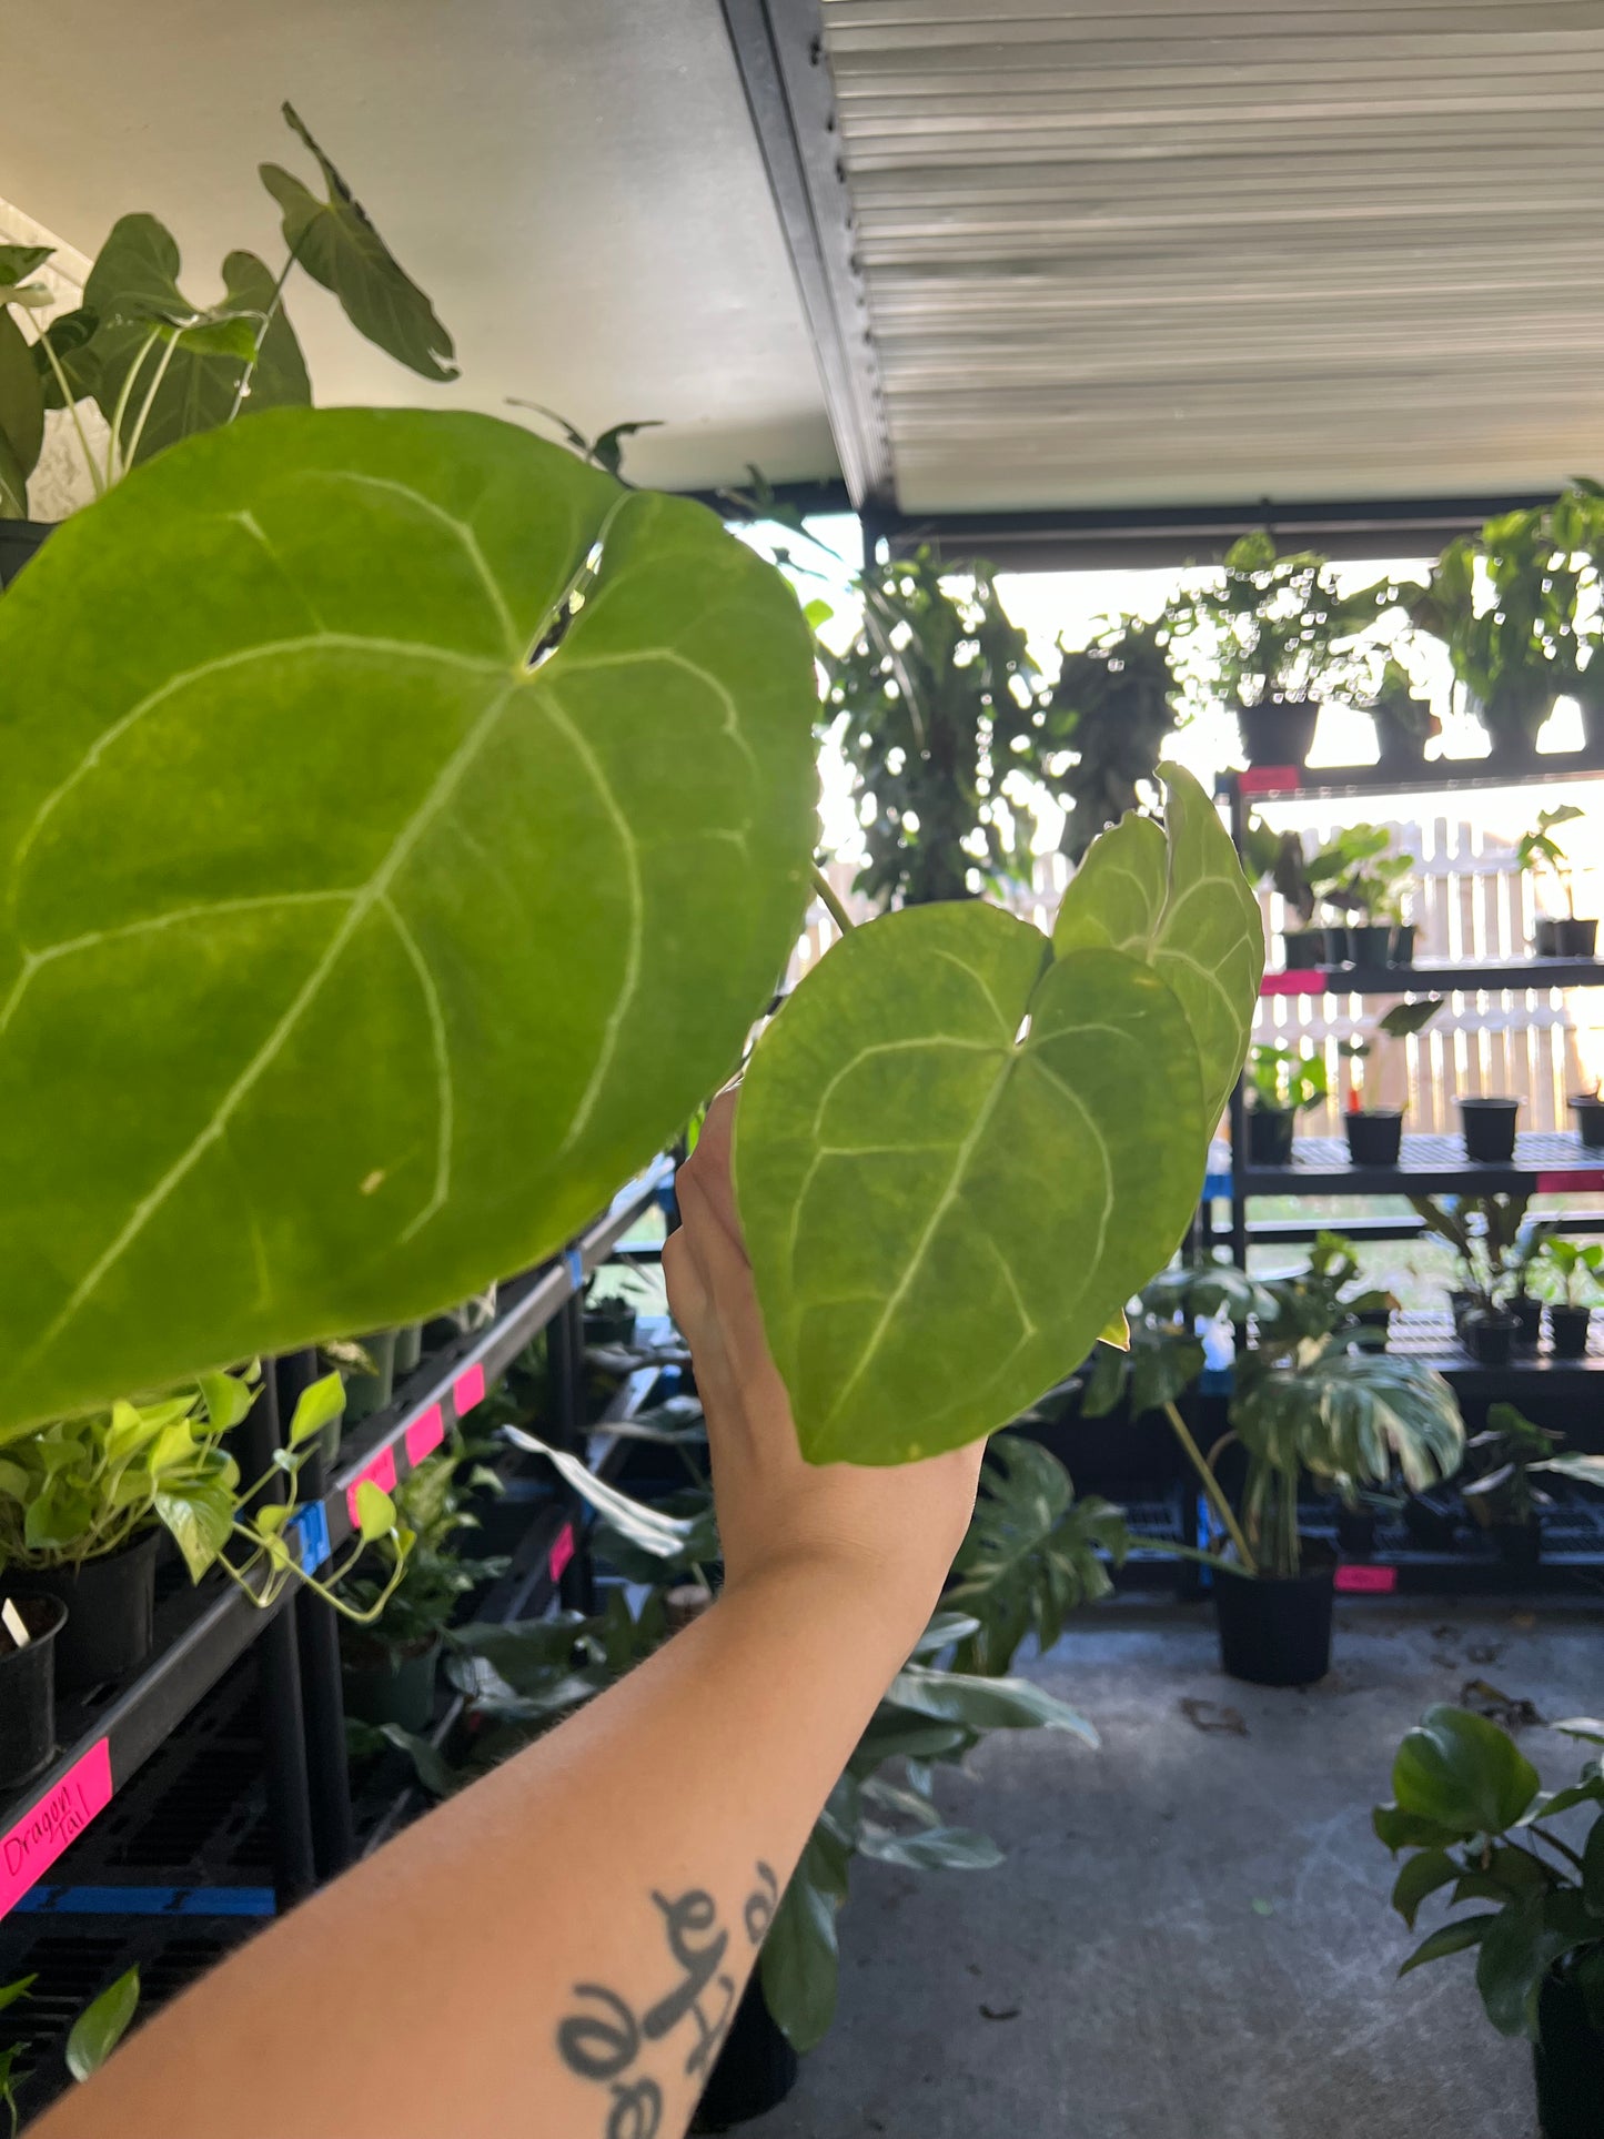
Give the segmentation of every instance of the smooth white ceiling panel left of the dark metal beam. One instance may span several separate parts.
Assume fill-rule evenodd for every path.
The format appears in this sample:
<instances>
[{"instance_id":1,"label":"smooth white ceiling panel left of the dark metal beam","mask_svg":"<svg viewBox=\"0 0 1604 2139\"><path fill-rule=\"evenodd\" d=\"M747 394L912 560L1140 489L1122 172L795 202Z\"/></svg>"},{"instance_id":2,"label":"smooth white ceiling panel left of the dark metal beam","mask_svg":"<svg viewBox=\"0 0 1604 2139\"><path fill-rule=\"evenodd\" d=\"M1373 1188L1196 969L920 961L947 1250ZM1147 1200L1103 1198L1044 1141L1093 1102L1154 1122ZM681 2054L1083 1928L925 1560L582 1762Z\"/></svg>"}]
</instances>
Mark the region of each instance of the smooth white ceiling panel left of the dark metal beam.
<instances>
[{"instance_id":1,"label":"smooth white ceiling panel left of the dark metal beam","mask_svg":"<svg viewBox=\"0 0 1604 2139\"><path fill-rule=\"evenodd\" d=\"M306 169L297 105L458 344L432 387L302 278L323 402L663 417L650 483L836 473L819 376L719 0L0 0L0 199L94 252L126 210L186 289L276 261L257 163Z\"/></svg>"}]
</instances>

